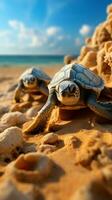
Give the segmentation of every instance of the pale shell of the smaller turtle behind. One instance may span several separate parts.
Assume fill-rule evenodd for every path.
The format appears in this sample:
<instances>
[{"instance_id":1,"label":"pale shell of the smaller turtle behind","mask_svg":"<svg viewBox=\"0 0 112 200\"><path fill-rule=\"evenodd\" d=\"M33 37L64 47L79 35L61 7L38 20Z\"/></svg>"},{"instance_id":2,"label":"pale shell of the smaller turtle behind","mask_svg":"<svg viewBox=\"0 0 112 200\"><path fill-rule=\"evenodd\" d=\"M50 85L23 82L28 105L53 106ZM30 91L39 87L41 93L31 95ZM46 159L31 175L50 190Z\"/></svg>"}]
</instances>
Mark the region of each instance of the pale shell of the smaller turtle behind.
<instances>
[{"instance_id":1,"label":"pale shell of the smaller turtle behind","mask_svg":"<svg viewBox=\"0 0 112 200\"><path fill-rule=\"evenodd\" d=\"M50 82L51 78L40 68L38 67L32 67L27 69L21 76L20 80L27 78L28 74L34 75L37 79L45 81L47 84Z\"/></svg>"}]
</instances>

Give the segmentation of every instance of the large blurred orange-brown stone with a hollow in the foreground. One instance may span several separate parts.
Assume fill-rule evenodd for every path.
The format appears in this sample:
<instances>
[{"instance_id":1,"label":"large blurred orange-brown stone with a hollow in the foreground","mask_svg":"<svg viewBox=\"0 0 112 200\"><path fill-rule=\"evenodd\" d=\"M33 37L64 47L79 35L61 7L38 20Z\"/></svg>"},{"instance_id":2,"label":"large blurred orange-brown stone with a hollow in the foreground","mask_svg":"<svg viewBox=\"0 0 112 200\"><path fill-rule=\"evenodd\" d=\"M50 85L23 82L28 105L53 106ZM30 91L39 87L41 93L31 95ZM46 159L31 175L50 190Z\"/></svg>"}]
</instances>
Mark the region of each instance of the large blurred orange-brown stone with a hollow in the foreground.
<instances>
[{"instance_id":1,"label":"large blurred orange-brown stone with a hollow in the foreground","mask_svg":"<svg viewBox=\"0 0 112 200\"><path fill-rule=\"evenodd\" d=\"M41 153L21 154L7 166L6 175L21 182L37 183L50 175L52 167L52 160Z\"/></svg>"}]
</instances>

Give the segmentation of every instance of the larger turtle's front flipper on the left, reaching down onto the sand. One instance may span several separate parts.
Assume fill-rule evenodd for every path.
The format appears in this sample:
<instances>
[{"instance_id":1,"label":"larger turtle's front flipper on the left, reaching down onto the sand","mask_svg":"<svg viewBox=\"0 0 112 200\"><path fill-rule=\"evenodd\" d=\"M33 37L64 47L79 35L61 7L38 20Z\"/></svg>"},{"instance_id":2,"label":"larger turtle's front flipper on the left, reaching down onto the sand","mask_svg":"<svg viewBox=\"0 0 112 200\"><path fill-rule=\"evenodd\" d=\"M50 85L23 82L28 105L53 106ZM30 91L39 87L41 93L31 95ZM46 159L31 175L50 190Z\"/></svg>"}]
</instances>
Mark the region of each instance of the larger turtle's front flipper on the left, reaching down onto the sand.
<instances>
[{"instance_id":1,"label":"larger turtle's front flipper on the left, reaching down onto the sand","mask_svg":"<svg viewBox=\"0 0 112 200\"><path fill-rule=\"evenodd\" d=\"M38 112L37 116L34 118L30 126L24 129L24 133L38 133L45 130L47 122L50 118L51 112L56 105L56 96L55 93L50 93L46 104Z\"/></svg>"}]
</instances>

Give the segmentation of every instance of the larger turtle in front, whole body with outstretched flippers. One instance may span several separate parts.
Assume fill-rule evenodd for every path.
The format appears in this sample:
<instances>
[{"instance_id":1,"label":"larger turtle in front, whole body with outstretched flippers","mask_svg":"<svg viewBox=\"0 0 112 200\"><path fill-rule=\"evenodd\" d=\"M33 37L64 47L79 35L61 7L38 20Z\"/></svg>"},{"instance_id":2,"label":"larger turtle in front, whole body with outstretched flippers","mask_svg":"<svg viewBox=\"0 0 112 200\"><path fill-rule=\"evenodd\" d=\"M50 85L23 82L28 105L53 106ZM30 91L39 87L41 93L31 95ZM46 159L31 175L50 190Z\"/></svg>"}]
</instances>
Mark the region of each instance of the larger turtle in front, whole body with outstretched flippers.
<instances>
[{"instance_id":1,"label":"larger turtle in front, whole body with outstretched flippers","mask_svg":"<svg viewBox=\"0 0 112 200\"><path fill-rule=\"evenodd\" d=\"M44 130L55 106L68 110L89 107L96 114L112 120L112 103L98 100L104 90L103 80L80 64L65 65L48 85L49 96L25 133Z\"/></svg>"}]
</instances>

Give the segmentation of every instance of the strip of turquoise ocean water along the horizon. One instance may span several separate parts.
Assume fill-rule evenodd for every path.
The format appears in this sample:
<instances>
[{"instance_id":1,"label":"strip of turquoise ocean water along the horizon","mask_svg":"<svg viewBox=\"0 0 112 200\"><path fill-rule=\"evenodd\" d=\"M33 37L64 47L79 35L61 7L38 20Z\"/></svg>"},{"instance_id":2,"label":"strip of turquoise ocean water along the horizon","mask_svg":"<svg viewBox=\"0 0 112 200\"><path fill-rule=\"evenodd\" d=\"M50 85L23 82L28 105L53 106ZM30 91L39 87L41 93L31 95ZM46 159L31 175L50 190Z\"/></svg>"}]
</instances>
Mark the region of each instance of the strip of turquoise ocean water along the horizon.
<instances>
[{"instance_id":1,"label":"strip of turquoise ocean water along the horizon","mask_svg":"<svg viewBox=\"0 0 112 200\"><path fill-rule=\"evenodd\" d=\"M62 64L64 56L37 56L37 55L0 55L0 66L10 67L14 65L43 65L52 66Z\"/></svg>"}]
</instances>

